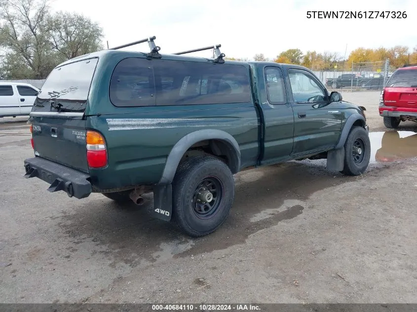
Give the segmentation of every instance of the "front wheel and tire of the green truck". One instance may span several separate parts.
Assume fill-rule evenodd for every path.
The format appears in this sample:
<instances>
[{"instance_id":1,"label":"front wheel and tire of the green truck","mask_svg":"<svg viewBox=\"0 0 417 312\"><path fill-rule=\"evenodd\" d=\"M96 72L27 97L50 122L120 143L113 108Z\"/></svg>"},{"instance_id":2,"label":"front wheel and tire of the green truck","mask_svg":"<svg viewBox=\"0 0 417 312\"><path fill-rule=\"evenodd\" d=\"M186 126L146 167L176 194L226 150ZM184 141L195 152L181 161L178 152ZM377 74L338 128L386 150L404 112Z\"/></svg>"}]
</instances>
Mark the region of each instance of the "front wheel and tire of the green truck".
<instances>
[{"instance_id":1,"label":"front wheel and tire of the green truck","mask_svg":"<svg viewBox=\"0 0 417 312\"><path fill-rule=\"evenodd\" d=\"M344 166L341 173L359 175L366 171L371 158L371 141L367 131L352 127L344 143Z\"/></svg>"}]
</instances>

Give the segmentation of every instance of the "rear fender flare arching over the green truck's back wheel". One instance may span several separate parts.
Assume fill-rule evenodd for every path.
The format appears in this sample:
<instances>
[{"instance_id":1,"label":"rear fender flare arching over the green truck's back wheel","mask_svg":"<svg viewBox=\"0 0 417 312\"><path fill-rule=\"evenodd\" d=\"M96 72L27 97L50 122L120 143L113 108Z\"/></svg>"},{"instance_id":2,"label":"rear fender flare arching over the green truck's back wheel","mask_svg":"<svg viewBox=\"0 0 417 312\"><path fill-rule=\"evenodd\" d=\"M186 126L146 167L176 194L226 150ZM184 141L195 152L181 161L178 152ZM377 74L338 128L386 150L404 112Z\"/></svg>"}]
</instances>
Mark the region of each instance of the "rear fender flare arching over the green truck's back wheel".
<instances>
[{"instance_id":1,"label":"rear fender flare arching over the green truck's back wheel","mask_svg":"<svg viewBox=\"0 0 417 312\"><path fill-rule=\"evenodd\" d=\"M195 143L203 140L216 139L223 141L229 147L231 159L231 172L237 173L240 170L240 148L236 139L225 131L217 129L197 130L181 138L169 153L162 176L158 182L159 185L170 184L174 179L175 172L185 152Z\"/></svg>"}]
</instances>

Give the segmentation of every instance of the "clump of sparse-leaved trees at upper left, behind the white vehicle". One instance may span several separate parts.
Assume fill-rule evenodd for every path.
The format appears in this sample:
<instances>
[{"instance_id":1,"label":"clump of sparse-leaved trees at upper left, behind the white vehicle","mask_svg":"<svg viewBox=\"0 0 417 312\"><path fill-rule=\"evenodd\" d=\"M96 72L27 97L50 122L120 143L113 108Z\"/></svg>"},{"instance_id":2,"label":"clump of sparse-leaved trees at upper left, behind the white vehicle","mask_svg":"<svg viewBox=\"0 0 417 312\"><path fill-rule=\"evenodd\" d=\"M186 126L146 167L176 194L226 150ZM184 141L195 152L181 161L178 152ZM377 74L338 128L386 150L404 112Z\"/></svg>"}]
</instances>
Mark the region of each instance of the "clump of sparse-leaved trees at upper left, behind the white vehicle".
<instances>
[{"instance_id":1,"label":"clump of sparse-leaved trees at upper left, behind the white vehicle","mask_svg":"<svg viewBox=\"0 0 417 312\"><path fill-rule=\"evenodd\" d=\"M51 15L48 0L0 0L2 76L44 79L60 62L101 48L102 30L76 14Z\"/></svg>"}]
</instances>

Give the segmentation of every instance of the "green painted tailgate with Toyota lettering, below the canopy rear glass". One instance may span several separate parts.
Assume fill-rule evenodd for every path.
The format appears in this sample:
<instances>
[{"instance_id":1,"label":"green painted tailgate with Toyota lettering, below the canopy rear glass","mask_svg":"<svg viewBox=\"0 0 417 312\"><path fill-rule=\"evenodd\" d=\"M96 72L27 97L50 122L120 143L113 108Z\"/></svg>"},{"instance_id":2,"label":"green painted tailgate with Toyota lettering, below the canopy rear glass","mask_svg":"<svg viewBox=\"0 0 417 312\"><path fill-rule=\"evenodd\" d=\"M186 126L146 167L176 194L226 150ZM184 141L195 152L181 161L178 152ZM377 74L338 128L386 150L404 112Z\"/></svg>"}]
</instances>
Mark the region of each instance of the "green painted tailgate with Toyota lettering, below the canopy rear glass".
<instances>
[{"instance_id":1,"label":"green painted tailgate with Toyota lettering, below the canopy rear glass","mask_svg":"<svg viewBox=\"0 0 417 312\"><path fill-rule=\"evenodd\" d=\"M31 117L35 155L88 172L85 120Z\"/></svg>"}]
</instances>

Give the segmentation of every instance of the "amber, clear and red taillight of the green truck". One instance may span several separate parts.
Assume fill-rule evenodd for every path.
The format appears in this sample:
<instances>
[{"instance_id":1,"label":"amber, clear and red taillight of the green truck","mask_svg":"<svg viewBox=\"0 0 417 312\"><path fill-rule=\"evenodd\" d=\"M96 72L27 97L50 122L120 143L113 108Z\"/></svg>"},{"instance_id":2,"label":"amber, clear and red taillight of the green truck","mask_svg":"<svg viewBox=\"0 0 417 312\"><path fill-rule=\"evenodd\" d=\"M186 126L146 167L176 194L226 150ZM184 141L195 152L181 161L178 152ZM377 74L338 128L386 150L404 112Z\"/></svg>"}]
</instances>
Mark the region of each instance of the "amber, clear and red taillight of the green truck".
<instances>
[{"instance_id":1,"label":"amber, clear and red taillight of the green truck","mask_svg":"<svg viewBox=\"0 0 417 312\"><path fill-rule=\"evenodd\" d=\"M87 131L87 163L90 168L103 168L107 166L106 142L101 134Z\"/></svg>"}]
</instances>

